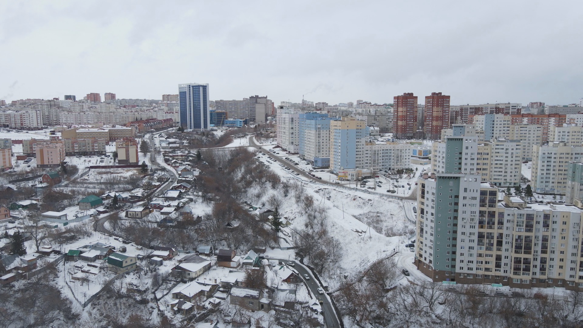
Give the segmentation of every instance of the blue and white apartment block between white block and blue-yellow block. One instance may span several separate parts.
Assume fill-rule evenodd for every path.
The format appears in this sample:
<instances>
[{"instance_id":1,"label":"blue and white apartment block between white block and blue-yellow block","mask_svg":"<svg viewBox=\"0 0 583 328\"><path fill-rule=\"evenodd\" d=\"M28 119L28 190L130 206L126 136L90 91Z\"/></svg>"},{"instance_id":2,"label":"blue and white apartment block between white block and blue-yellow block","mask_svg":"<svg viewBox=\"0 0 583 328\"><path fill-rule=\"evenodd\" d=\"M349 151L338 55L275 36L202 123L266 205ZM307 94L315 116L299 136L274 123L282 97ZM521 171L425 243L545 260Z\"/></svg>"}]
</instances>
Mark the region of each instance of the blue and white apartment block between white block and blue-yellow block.
<instances>
[{"instance_id":1,"label":"blue and white apartment block between white block and blue-yellow block","mask_svg":"<svg viewBox=\"0 0 583 328\"><path fill-rule=\"evenodd\" d=\"M305 113L298 116L300 158L317 168L330 165L330 122L338 120L328 114Z\"/></svg>"}]
</instances>

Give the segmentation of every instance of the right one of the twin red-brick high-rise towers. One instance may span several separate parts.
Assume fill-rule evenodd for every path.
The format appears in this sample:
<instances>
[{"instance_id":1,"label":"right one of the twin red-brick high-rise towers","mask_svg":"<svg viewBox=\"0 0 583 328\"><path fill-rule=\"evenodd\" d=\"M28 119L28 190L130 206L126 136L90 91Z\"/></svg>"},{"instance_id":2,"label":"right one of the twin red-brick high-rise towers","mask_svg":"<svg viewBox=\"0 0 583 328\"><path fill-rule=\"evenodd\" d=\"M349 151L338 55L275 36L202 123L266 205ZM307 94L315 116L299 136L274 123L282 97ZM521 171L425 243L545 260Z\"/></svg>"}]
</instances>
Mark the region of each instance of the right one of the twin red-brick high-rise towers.
<instances>
[{"instance_id":1,"label":"right one of the twin red-brick high-rise towers","mask_svg":"<svg viewBox=\"0 0 583 328\"><path fill-rule=\"evenodd\" d=\"M425 96L425 137L440 139L441 130L450 127L449 96L441 95L441 92L431 92L431 96Z\"/></svg>"}]
</instances>

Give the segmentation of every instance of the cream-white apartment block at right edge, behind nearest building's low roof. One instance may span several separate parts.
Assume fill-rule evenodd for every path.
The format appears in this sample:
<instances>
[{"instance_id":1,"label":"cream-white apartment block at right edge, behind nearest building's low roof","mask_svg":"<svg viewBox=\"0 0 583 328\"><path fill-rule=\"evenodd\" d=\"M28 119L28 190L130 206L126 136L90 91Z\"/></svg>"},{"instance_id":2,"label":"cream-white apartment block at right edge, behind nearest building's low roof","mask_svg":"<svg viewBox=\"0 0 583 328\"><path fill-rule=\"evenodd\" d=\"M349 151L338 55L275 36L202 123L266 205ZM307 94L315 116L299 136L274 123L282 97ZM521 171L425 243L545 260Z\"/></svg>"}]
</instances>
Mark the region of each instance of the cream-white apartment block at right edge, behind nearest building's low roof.
<instances>
[{"instance_id":1,"label":"cream-white apartment block at right edge, behind nearest building's low roof","mask_svg":"<svg viewBox=\"0 0 583 328\"><path fill-rule=\"evenodd\" d=\"M534 145L532 151L532 189L538 194L567 193L568 165L581 162L583 146L568 146L566 142Z\"/></svg>"}]
</instances>

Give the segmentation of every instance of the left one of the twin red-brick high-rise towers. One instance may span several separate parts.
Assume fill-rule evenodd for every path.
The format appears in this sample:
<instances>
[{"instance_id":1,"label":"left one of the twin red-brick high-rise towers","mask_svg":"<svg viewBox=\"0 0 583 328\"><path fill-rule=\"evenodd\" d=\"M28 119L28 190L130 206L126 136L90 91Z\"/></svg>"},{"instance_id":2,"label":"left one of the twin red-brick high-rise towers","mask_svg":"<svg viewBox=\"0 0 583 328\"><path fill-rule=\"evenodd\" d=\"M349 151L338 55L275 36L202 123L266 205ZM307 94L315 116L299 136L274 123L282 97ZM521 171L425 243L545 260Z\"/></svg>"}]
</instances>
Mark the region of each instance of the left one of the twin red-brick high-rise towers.
<instances>
[{"instance_id":1,"label":"left one of the twin red-brick high-rise towers","mask_svg":"<svg viewBox=\"0 0 583 328\"><path fill-rule=\"evenodd\" d=\"M397 139L417 138L417 96L403 93L393 98L393 132Z\"/></svg>"}]
</instances>

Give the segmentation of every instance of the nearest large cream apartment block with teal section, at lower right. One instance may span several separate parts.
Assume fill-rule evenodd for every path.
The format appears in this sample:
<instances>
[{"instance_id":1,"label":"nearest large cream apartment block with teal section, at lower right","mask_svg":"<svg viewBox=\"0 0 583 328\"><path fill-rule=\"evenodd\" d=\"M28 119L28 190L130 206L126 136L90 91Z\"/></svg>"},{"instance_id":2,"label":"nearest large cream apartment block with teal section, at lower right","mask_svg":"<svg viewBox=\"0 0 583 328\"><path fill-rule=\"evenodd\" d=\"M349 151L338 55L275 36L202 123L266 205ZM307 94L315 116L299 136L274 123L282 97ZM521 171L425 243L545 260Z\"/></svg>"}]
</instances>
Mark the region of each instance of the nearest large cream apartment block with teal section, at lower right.
<instances>
[{"instance_id":1,"label":"nearest large cream apartment block with teal section, at lower right","mask_svg":"<svg viewBox=\"0 0 583 328\"><path fill-rule=\"evenodd\" d=\"M583 288L581 210L526 204L480 177L424 175L417 197L417 268L433 281Z\"/></svg>"}]
</instances>

